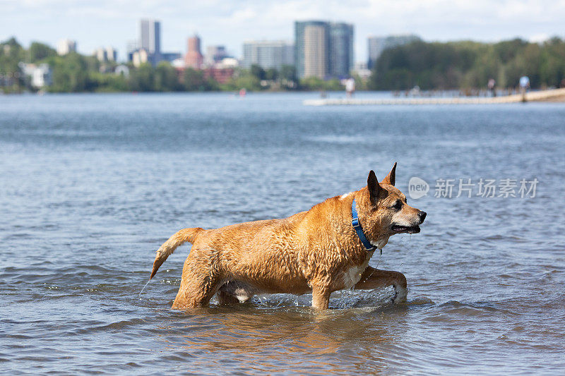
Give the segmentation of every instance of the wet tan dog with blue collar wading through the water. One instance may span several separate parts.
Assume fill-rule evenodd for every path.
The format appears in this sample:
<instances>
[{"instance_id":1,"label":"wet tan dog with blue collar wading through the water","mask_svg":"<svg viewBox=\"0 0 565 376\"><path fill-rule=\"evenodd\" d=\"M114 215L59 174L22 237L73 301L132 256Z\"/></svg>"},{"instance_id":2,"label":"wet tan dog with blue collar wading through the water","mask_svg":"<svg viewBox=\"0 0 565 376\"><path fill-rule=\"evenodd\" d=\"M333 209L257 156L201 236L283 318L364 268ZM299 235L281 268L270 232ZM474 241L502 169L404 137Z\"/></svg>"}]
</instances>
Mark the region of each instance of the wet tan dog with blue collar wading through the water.
<instances>
[{"instance_id":1,"label":"wet tan dog with blue collar wading through the water","mask_svg":"<svg viewBox=\"0 0 565 376\"><path fill-rule=\"evenodd\" d=\"M395 171L396 163L381 183L371 171L366 187L285 219L181 230L157 250L150 278L188 241L193 245L172 308L208 305L215 293L224 304L249 301L256 293L311 292L312 306L326 309L333 291L354 286L394 286L393 301L405 301L404 274L368 266L391 235L420 232L426 217L394 187ZM355 211L362 229L352 225Z\"/></svg>"}]
</instances>

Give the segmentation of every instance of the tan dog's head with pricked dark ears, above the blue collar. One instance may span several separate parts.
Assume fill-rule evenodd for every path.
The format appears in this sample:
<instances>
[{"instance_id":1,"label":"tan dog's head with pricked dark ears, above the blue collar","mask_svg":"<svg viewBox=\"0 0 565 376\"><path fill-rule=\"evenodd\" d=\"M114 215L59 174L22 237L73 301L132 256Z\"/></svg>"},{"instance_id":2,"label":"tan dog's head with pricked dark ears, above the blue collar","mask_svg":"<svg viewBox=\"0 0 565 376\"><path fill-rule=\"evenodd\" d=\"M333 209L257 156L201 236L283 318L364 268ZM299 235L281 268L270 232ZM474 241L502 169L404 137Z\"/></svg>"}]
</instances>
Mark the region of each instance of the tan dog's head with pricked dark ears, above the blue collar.
<instances>
[{"instance_id":1,"label":"tan dog's head with pricked dark ears, above the blue collar","mask_svg":"<svg viewBox=\"0 0 565 376\"><path fill-rule=\"evenodd\" d=\"M396 163L381 183L371 170L367 187L361 190L363 204L359 205L359 217L371 243L394 234L417 234L426 218L426 212L408 205L406 196L394 186L395 180Z\"/></svg>"}]
</instances>

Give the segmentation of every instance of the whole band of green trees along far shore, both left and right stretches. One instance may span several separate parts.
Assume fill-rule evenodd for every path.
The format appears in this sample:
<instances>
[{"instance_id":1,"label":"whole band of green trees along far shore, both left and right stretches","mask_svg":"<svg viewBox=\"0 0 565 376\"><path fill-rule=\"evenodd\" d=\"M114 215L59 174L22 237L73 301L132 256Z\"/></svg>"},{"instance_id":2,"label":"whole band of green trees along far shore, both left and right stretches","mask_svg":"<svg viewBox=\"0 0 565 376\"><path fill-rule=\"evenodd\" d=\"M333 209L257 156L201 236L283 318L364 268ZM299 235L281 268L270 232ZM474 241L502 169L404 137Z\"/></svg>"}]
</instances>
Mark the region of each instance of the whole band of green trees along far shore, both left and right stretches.
<instances>
[{"instance_id":1,"label":"whole band of green trees along far shore, both left and right stretches","mask_svg":"<svg viewBox=\"0 0 565 376\"><path fill-rule=\"evenodd\" d=\"M47 63L52 70L49 92L172 92L239 90L343 90L339 80L297 78L294 66L279 70L251 66L236 68L227 83L218 83L203 71L179 72L168 62L135 67L129 75L115 74L117 63L98 61L77 53L57 55L52 47L32 42L24 49L14 38L0 44L0 90L33 91L18 66ZM515 39L498 43L412 42L383 51L367 83L356 76L357 90L460 90L483 88L494 78L498 87L516 87L528 75L533 88L565 85L565 41L554 37L543 43Z\"/></svg>"}]
</instances>

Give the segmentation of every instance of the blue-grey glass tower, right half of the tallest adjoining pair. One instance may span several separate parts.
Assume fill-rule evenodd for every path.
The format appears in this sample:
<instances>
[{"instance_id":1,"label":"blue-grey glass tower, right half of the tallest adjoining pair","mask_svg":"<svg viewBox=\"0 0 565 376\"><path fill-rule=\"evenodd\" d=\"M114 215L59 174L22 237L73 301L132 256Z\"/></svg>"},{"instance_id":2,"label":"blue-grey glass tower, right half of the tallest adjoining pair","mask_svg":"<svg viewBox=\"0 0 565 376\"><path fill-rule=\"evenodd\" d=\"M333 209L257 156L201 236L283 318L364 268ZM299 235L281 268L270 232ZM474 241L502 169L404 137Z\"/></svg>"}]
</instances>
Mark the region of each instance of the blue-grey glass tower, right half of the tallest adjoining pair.
<instances>
[{"instance_id":1,"label":"blue-grey glass tower, right half of the tallest adjoining pair","mask_svg":"<svg viewBox=\"0 0 565 376\"><path fill-rule=\"evenodd\" d=\"M353 69L353 25L330 24L330 75L346 78Z\"/></svg>"}]
</instances>

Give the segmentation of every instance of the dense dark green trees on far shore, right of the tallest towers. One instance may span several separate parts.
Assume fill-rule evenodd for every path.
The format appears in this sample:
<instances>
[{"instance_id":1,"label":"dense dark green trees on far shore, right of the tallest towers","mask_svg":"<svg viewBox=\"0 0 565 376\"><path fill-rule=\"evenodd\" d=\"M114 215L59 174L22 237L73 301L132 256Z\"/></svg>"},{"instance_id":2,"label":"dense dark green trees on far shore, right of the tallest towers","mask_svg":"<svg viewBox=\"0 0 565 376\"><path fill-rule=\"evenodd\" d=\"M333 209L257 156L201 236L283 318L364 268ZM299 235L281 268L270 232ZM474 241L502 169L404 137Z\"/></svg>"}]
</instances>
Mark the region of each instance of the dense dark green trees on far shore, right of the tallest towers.
<instances>
[{"instance_id":1,"label":"dense dark green trees on far shore, right of the tallest towers","mask_svg":"<svg viewBox=\"0 0 565 376\"><path fill-rule=\"evenodd\" d=\"M565 85L565 41L515 39L498 43L412 42L383 51L371 72L371 90L449 90L518 85L522 75L533 88Z\"/></svg>"}]
</instances>

